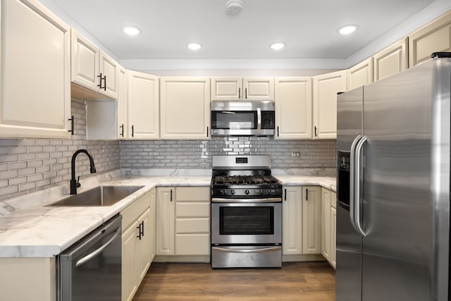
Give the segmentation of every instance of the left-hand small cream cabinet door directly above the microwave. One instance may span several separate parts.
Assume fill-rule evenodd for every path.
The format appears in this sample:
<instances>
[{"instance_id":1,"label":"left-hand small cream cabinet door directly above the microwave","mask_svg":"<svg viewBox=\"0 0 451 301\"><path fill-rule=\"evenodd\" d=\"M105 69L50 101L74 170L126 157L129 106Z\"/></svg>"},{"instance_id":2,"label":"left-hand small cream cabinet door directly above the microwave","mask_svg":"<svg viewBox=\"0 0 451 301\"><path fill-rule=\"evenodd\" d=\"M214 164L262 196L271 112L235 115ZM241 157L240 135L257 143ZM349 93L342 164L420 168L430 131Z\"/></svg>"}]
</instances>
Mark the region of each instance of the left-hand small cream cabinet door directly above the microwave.
<instances>
[{"instance_id":1,"label":"left-hand small cream cabinet door directly above the microwave","mask_svg":"<svg viewBox=\"0 0 451 301\"><path fill-rule=\"evenodd\" d=\"M241 78L211 78L211 100L242 99Z\"/></svg>"}]
</instances>

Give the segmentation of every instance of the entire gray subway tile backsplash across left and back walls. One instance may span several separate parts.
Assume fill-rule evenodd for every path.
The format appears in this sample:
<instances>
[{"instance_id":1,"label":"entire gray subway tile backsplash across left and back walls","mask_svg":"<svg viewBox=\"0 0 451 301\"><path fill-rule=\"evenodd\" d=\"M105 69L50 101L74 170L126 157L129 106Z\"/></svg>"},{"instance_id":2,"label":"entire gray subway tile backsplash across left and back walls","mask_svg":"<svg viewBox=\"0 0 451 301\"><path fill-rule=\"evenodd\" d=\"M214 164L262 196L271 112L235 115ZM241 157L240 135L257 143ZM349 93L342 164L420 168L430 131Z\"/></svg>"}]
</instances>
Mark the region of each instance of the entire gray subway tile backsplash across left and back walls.
<instances>
[{"instance_id":1,"label":"entire gray subway tile backsplash across left and back walls","mask_svg":"<svg viewBox=\"0 0 451 301\"><path fill-rule=\"evenodd\" d=\"M97 172L118 168L211 168L211 157L269 154L273 168L335 168L335 140L273 140L269 137L216 137L211 140L86 140L85 105L72 102L71 139L0 139L0 199L68 183L77 149L94 157ZM299 152L299 156L292 156ZM76 176L89 175L89 159L77 157Z\"/></svg>"}]
</instances>

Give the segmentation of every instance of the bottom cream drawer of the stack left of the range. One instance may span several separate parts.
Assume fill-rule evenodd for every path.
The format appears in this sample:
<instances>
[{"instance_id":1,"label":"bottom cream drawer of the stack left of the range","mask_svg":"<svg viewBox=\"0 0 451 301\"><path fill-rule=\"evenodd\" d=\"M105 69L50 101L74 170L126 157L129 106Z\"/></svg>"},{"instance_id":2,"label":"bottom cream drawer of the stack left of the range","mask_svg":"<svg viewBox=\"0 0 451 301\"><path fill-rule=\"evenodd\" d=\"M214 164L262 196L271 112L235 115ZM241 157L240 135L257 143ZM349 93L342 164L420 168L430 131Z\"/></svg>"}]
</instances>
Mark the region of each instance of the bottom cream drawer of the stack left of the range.
<instances>
[{"instance_id":1,"label":"bottom cream drawer of the stack left of the range","mask_svg":"<svg viewBox=\"0 0 451 301\"><path fill-rule=\"evenodd\" d=\"M209 234L176 234L175 255L209 255Z\"/></svg>"}]
</instances>

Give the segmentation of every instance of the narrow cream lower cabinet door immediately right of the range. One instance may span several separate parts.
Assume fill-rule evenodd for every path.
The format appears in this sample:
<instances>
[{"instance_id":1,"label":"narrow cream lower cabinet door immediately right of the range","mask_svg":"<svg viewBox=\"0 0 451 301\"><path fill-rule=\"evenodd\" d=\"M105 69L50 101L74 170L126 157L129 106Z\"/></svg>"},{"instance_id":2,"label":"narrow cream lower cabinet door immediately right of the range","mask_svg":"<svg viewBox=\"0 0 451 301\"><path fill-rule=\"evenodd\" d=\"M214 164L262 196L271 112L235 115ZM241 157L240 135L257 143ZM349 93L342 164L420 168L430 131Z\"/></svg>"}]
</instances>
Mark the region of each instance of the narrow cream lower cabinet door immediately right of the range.
<instances>
[{"instance_id":1,"label":"narrow cream lower cabinet door immediately right of the range","mask_svg":"<svg viewBox=\"0 0 451 301\"><path fill-rule=\"evenodd\" d=\"M283 191L283 254L302 254L302 187L287 186Z\"/></svg>"}]
</instances>

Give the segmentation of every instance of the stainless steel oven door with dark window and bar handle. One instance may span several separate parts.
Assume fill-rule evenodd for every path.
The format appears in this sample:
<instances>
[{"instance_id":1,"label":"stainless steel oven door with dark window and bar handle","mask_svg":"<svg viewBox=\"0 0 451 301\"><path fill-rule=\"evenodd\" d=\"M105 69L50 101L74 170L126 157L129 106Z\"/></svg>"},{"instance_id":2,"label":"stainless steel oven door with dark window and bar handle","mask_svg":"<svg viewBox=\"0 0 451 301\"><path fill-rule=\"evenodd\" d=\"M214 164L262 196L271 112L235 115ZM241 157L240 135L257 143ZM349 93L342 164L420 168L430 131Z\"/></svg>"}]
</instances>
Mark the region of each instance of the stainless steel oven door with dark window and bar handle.
<instances>
[{"instance_id":1,"label":"stainless steel oven door with dark window and bar handle","mask_svg":"<svg viewBox=\"0 0 451 301\"><path fill-rule=\"evenodd\" d=\"M211 203L212 245L281 243L281 202Z\"/></svg>"}]
</instances>

